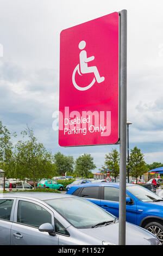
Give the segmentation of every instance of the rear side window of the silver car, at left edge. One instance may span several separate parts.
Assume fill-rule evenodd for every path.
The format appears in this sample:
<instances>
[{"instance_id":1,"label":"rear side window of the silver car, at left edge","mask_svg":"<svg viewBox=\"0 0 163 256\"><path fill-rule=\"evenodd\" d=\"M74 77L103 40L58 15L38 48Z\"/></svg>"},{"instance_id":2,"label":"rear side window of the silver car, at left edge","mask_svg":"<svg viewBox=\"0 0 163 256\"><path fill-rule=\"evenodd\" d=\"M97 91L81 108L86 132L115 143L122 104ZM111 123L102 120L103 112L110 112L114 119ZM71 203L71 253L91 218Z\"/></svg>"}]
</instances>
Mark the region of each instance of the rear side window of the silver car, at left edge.
<instances>
[{"instance_id":1,"label":"rear side window of the silver car, at left edge","mask_svg":"<svg viewBox=\"0 0 163 256\"><path fill-rule=\"evenodd\" d=\"M10 220L13 202L14 200L10 200L10 199L0 199L0 219L1 220L6 220L6 221Z\"/></svg>"}]
</instances>

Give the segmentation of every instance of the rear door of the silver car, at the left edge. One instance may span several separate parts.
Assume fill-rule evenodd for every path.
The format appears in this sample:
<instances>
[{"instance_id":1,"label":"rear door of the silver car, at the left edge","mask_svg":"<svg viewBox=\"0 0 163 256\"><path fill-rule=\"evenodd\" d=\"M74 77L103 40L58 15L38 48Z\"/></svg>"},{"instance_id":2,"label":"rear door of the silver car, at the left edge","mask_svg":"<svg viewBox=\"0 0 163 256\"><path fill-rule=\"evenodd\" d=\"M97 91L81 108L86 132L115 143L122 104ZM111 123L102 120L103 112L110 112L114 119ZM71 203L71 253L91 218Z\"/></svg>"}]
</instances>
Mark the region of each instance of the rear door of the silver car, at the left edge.
<instances>
[{"instance_id":1,"label":"rear door of the silver car, at the left edge","mask_svg":"<svg viewBox=\"0 0 163 256\"><path fill-rule=\"evenodd\" d=\"M10 245L15 200L0 198L0 245Z\"/></svg>"}]
</instances>

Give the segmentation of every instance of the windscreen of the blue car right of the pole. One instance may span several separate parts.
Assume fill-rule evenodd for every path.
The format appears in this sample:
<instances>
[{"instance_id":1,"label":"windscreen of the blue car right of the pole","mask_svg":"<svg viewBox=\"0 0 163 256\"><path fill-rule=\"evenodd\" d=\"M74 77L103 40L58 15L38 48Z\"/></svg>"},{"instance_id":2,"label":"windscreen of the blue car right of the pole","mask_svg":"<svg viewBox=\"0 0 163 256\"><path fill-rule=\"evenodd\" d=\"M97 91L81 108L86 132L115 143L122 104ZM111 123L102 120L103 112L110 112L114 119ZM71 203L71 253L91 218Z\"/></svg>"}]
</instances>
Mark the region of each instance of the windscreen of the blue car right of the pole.
<instances>
[{"instance_id":1,"label":"windscreen of the blue car right of the pole","mask_svg":"<svg viewBox=\"0 0 163 256\"><path fill-rule=\"evenodd\" d=\"M161 197L140 185L127 186L127 191L129 191L142 202L156 202L156 200L162 200Z\"/></svg>"}]
</instances>

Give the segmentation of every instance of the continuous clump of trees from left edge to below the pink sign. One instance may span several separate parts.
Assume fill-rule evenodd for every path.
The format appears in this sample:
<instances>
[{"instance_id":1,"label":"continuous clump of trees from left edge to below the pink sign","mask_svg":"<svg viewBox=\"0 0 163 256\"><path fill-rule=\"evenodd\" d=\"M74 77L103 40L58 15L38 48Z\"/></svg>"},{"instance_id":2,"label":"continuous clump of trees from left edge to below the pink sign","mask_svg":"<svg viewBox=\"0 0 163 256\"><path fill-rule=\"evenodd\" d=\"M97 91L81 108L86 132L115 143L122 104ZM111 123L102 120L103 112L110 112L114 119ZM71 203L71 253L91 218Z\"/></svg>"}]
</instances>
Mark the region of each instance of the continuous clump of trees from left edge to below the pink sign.
<instances>
[{"instance_id":1,"label":"continuous clump of trees from left edge to below the pink sign","mask_svg":"<svg viewBox=\"0 0 163 256\"><path fill-rule=\"evenodd\" d=\"M6 178L20 180L37 180L53 176L73 175L92 178L91 170L96 168L90 154L65 156L60 152L52 154L42 143L39 143L34 132L27 125L21 132L22 140L12 143L16 133L11 133L0 120L0 169L5 171Z\"/></svg>"}]
</instances>

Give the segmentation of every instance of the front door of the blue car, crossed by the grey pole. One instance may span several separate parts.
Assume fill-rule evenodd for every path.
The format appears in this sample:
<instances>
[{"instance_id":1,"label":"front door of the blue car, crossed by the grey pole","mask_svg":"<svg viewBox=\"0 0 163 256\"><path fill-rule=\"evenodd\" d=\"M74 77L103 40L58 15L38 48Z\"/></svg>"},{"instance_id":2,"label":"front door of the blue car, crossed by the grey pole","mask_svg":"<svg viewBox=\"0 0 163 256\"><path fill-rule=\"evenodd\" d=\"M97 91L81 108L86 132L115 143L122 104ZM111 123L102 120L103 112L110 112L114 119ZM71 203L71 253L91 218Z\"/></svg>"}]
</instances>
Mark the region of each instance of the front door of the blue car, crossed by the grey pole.
<instances>
[{"instance_id":1,"label":"front door of the blue car, crossed by the grey pole","mask_svg":"<svg viewBox=\"0 0 163 256\"><path fill-rule=\"evenodd\" d=\"M120 189L113 186L102 187L102 200L101 207L112 215L119 217L119 193ZM126 197L130 198L130 202L126 205L126 221L136 224L137 223L137 212L136 202L127 193Z\"/></svg>"}]
</instances>

